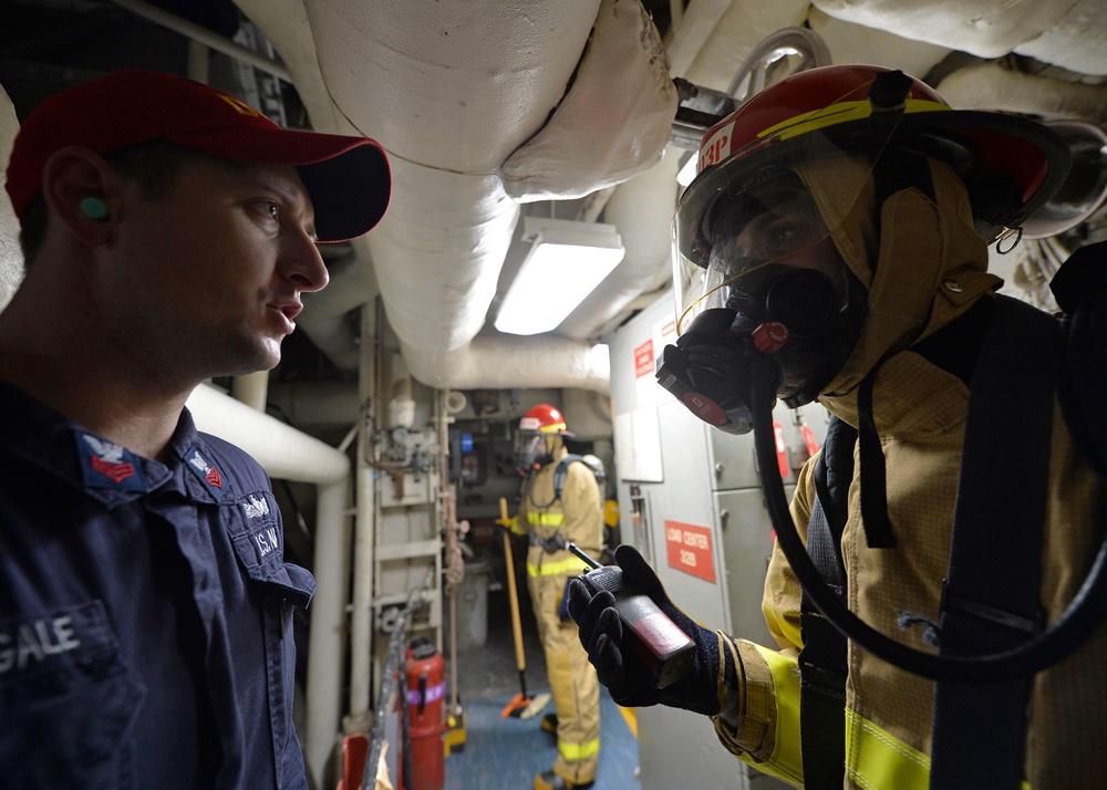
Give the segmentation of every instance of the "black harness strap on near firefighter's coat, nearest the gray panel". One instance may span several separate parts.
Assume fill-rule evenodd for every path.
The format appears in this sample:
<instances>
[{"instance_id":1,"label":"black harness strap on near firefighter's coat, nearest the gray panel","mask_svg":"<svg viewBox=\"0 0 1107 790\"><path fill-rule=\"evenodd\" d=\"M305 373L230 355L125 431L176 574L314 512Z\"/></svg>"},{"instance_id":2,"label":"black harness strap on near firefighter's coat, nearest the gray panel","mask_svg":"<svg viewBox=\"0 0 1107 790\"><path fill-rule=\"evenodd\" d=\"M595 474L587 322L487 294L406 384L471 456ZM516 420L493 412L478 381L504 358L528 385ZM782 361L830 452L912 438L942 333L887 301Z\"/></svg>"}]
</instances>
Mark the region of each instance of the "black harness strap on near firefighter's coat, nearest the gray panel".
<instances>
[{"instance_id":1,"label":"black harness strap on near firefighter's coat, nearest the gray panel","mask_svg":"<svg viewBox=\"0 0 1107 790\"><path fill-rule=\"evenodd\" d=\"M807 524L807 552L827 585L838 595L846 591L841 533L846 528L847 499L853 477L857 430L830 418L815 466L818 495ZM846 753L846 637L831 625L804 593L800 614L804 648L799 653L799 734L804 786L840 790Z\"/></svg>"}]
</instances>

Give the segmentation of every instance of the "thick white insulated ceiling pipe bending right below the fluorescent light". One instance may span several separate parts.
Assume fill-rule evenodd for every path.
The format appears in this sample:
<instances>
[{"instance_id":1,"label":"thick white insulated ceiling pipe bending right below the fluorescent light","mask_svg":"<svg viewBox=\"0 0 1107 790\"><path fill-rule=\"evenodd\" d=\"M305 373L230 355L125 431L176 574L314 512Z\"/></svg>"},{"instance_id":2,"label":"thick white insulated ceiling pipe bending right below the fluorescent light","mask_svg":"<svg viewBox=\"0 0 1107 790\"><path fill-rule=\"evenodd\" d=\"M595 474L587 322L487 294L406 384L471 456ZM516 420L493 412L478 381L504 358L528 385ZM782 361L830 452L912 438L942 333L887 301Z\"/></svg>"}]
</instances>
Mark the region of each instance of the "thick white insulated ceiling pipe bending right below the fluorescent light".
<instances>
[{"instance_id":1,"label":"thick white insulated ceiling pipe bending right below the fluorescent light","mask_svg":"<svg viewBox=\"0 0 1107 790\"><path fill-rule=\"evenodd\" d=\"M619 1L641 13L637 0ZM325 80L335 108L333 128L315 127L365 134L389 150L392 205L353 249L362 266L372 261L412 374L436 387L518 387L537 378L538 386L606 392L606 352L590 340L477 336L519 217L498 168L561 102L600 1L572 14L549 0L485 4L477 15L467 6L428 0L238 6L281 53L303 44L302 28L284 23L302 8L319 69L301 79L298 70L312 71L301 58L290 71L301 94ZM313 311L337 326L343 300L325 301L334 289L311 300L301 324L349 365L350 329L319 339L309 318Z\"/></svg>"}]
</instances>

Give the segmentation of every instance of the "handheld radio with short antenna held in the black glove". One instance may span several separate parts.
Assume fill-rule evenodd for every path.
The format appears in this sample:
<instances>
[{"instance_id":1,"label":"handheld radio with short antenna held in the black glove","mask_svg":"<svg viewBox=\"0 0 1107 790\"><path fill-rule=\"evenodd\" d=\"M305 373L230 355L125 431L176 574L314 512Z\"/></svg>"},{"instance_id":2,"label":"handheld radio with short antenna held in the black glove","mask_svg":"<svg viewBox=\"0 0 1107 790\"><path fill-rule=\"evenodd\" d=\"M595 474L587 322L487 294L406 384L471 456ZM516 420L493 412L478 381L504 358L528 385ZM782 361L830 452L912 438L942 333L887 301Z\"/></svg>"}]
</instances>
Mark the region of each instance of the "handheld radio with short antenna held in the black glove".
<instances>
[{"instance_id":1,"label":"handheld radio with short antenna held in the black glove","mask_svg":"<svg viewBox=\"0 0 1107 790\"><path fill-rule=\"evenodd\" d=\"M578 576L596 595L608 591L614 596L614 610L619 613L628 634L628 646L650 673L656 688L665 688L684 677L692 665L695 643L661 611L653 600L630 584L618 565L601 565L581 549L569 543L566 547L592 570Z\"/></svg>"}]
</instances>

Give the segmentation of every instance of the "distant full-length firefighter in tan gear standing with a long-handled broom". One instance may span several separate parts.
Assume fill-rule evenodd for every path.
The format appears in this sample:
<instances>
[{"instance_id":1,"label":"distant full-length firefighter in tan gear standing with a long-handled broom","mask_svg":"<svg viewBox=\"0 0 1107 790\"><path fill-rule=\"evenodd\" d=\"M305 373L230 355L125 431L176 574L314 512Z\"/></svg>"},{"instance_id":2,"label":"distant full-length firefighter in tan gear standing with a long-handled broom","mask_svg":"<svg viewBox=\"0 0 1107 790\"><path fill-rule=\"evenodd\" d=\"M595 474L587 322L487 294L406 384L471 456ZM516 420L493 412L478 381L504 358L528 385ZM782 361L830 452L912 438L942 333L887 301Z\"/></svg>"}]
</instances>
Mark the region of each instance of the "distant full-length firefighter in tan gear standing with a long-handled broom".
<instances>
[{"instance_id":1,"label":"distant full-length firefighter in tan gear standing with a long-handled broom","mask_svg":"<svg viewBox=\"0 0 1107 790\"><path fill-rule=\"evenodd\" d=\"M511 529L526 533L527 584L554 696L555 717L544 727L557 731L552 770L535 777L535 790L589 787L600 757L600 686L566 607L569 580L583 563L566 550L576 543L599 557L603 542L602 497L584 462L559 462L569 456L562 436L571 436L565 415L539 404L519 420L516 465L525 475L519 511Z\"/></svg>"}]
</instances>

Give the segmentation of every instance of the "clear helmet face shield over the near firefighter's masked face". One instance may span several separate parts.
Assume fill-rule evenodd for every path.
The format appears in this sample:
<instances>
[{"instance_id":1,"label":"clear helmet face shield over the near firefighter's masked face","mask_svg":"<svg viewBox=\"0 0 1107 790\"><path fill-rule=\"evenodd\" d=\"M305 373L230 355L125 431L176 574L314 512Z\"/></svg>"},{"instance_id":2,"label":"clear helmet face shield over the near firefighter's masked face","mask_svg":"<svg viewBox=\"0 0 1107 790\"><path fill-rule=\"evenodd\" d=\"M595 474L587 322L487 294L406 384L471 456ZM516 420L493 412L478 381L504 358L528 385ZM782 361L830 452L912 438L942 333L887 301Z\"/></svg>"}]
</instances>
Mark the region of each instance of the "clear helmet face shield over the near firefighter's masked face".
<instances>
[{"instance_id":1,"label":"clear helmet face shield over the near firefighter's masked face","mask_svg":"<svg viewBox=\"0 0 1107 790\"><path fill-rule=\"evenodd\" d=\"M705 422L751 430L755 360L774 363L757 367L772 371L776 395L793 407L844 366L866 293L834 237L872 188L875 164L857 150L879 156L892 128L869 126L863 141L821 129L764 138L689 186L673 226L679 340L658 380ZM834 162L849 162L849 175L816 199L805 177Z\"/></svg>"}]
</instances>

